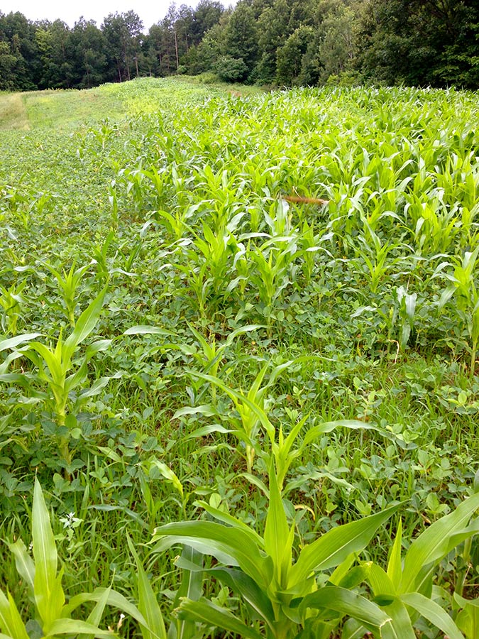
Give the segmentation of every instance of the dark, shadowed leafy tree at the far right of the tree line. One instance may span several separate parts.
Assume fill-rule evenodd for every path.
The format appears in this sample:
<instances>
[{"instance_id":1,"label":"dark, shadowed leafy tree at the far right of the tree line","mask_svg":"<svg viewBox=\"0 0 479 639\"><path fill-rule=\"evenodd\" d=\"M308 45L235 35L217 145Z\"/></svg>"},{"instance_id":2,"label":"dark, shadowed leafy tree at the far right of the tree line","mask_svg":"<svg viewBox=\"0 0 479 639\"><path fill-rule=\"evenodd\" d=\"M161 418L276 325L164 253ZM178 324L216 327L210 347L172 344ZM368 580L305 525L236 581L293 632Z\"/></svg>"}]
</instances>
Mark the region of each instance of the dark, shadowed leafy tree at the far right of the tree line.
<instances>
[{"instance_id":1,"label":"dark, shadowed leafy tree at the far right of the tree line","mask_svg":"<svg viewBox=\"0 0 479 639\"><path fill-rule=\"evenodd\" d=\"M463 2L382 1L363 17L363 68L387 83L477 86L478 9Z\"/></svg>"}]
</instances>

